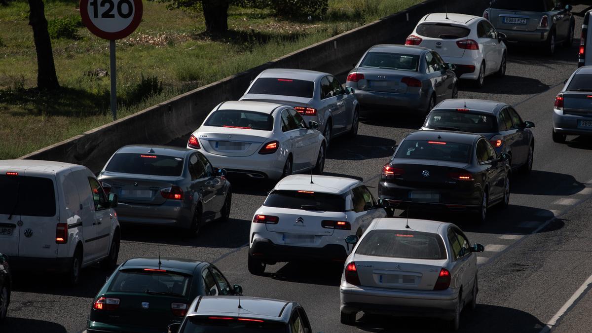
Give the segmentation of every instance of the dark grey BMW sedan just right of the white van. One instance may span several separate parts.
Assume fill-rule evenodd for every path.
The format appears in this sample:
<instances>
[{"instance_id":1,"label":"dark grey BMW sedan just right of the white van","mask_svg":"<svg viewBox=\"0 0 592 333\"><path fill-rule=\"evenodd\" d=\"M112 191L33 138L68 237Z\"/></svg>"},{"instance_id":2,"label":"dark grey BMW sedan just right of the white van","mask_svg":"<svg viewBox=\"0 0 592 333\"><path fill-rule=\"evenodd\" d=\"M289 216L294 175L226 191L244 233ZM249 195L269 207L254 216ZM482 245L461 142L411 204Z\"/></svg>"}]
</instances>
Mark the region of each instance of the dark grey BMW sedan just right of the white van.
<instances>
[{"instance_id":1,"label":"dark grey BMW sedan just right of the white van","mask_svg":"<svg viewBox=\"0 0 592 333\"><path fill-rule=\"evenodd\" d=\"M229 217L225 175L193 149L139 145L115 152L98 180L117 194L120 222L177 226L197 235L202 223Z\"/></svg>"}]
</instances>

